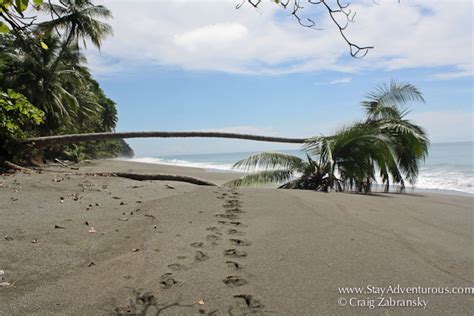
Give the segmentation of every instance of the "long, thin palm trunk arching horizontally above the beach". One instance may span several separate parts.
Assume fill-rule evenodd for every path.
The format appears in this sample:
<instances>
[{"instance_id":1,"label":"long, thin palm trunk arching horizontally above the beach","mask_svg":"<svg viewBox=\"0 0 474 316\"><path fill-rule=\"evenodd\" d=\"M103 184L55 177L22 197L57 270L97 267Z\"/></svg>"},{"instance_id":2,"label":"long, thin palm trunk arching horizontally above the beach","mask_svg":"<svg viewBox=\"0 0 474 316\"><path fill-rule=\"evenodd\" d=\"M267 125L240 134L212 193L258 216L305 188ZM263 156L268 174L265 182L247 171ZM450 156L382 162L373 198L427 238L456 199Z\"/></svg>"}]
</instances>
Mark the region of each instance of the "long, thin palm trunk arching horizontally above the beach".
<instances>
[{"instance_id":1,"label":"long, thin palm trunk arching horizontally above the beach","mask_svg":"<svg viewBox=\"0 0 474 316\"><path fill-rule=\"evenodd\" d=\"M236 133L219 133L219 132L105 132L105 133L88 133L88 134L70 134L57 135L45 137L33 137L23 140L22 144L34 144L37 147L42 147L52 144L69 144L83 141L97 141L105 139L120 139L120 138L188 138L188 137L210 137L210 138L234 138L254 140L261 142L275 142L275 143L290 143L303 144L306 142L305 138L285 138L285 137L270 137L250 134L236 134Z\"/></svg>"}]
</instances>

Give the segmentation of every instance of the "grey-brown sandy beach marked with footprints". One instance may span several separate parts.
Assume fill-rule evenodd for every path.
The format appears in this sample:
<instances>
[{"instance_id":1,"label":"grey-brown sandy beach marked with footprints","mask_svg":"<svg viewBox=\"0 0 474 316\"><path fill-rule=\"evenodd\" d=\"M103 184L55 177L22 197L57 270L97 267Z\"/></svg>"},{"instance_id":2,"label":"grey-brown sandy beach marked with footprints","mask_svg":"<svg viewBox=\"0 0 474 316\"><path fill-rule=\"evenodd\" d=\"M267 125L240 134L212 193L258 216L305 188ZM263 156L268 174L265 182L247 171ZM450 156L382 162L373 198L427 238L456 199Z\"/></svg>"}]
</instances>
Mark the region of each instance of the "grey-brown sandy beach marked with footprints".
<instances>
[{"instance_id":1,"label":"grey-brown sandy beach marked with footprints","mask_svg":"<svg viewBox=\"0 0 474 316\"><path fill-rule=\"evenodd\" d=\"M238 174L117 160L75 167L0 177L0 315L474 309L471 196L227 188ZM84 175L94 172L217 186Z\"/></svg>"}]
</instances>

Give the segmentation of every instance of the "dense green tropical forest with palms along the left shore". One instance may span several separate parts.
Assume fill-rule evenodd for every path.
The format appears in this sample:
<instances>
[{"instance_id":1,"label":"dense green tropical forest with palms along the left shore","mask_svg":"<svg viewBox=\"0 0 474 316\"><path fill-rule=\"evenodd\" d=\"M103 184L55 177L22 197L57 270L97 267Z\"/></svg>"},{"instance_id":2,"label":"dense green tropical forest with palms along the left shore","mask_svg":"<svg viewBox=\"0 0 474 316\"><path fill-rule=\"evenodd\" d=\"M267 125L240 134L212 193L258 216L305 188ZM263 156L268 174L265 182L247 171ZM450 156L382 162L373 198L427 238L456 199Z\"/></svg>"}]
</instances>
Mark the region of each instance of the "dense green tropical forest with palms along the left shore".
<instances>
[{"instance_id":1,"label":"dense green tropical forest with palms along the left shore","mask_svg":"<svg viewBox=\"0 0 474 316\"><path fill-rule=\"evenodd\" d=\"M83 54L87 44L100 48L112 34L104 22L112 17L110 11L86 0L0 0L0 17L0 159L132 156L121 139L41 149L18 146L33 136L114 131L116 104L92 77Z\"/></svg>"}]
</instances>

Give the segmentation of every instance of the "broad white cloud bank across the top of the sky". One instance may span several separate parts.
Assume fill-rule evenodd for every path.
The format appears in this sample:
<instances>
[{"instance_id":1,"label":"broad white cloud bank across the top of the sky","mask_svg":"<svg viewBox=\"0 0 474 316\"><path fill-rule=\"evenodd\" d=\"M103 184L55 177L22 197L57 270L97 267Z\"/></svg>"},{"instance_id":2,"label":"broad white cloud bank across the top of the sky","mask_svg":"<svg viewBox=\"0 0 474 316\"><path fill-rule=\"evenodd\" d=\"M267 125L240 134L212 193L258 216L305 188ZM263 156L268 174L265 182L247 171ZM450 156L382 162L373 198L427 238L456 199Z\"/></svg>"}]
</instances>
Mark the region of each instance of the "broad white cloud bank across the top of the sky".
<instances>
[{"instance_id":1,"label":"broad white cloud bank across the top of the sky","mask_svg":"<svg viewBox=\"0 0 474 316\"><path fill-rule=\"evenodd\" d=\"M470 0L354 4L357 21L347 34L375 46L362 60L348 58L347 45L323 11L315 14L324 30L316 31L265 2L260 10L236 10L233 0L103 3L115 17L115 36L105 41L100 57L88 51L96 73L164 65L247 74L452 67L455 73L433 78L472 75Z\"/></svg>"}]
</instances>

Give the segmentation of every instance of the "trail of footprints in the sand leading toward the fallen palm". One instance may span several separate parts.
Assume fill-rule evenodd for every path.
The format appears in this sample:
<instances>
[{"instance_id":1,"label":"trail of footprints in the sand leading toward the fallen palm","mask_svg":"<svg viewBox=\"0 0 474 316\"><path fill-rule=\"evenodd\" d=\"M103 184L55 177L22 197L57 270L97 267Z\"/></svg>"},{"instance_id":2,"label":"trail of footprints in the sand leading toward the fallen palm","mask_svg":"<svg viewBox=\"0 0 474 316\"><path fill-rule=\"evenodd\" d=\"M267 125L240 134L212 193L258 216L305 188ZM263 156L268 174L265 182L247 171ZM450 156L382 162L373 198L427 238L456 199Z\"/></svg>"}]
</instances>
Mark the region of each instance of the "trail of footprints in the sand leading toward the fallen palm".
<instances>
[{"instance_id":1,"label":"trail of footprints in the sand leading toward the fallen palm","mask_svg":"<svg viewBox=\"0 0 474 316\"><path fill-rule=\"evenodd\" d=\"M214 191L214 193L219 194L217 199L225 200L225 203L223 204L223 211L215 214L217 226L206 228L206 241L212 246L217 246L222 240L227 239L226 242L230 247L226 247L223 251L223 262L226 264L228 269L232 271L232 274L226 276L222 282L231 288L239 288L249 283L247 279L239 275L239 272L242 272L245 268L245 265L241 260L245 259L248 255L245 251L245 247L252 245L251 241L241 238L245 235L244 229L247 227L246 224L241 222L241 215L245 212L242 210L242 201L239 199L240 193L233 190L223 193ZM224 236L224 234L227 236ZM196 241L191 243L190 246L195 249L194 260L196 262L209 259L209 256L203 251L205 246L204 242ZM179 263L170 264L168 265L168 268L173 271L189 269ZM160 285L163 289L169 289L173 286L182 284L182 282L174 278L172 273L165 273L161 276L160 281ZM260 300L252 295L236 294L233 298L235 300L235 306L229 308L229 314L263 312L263 305Z\"/></svg>"}]
</instances>

